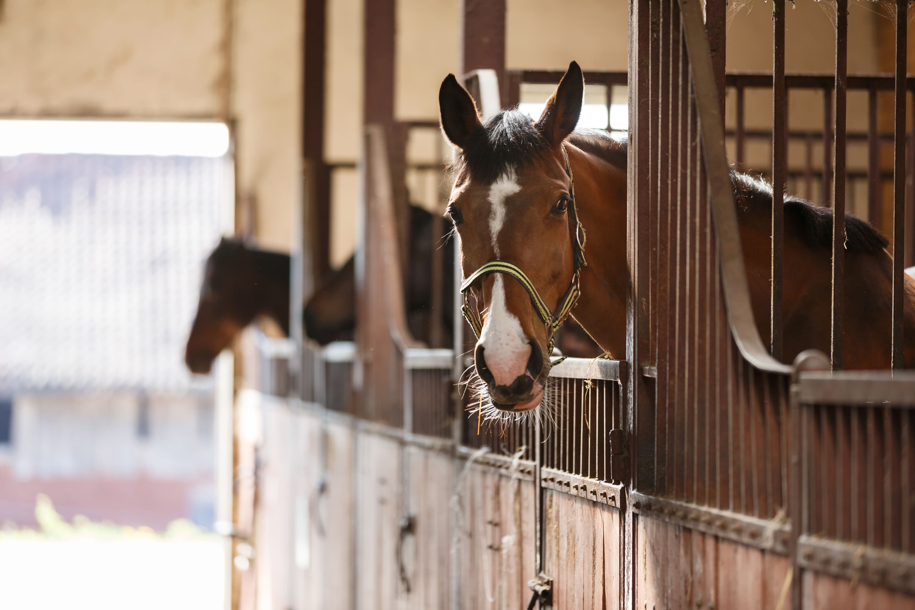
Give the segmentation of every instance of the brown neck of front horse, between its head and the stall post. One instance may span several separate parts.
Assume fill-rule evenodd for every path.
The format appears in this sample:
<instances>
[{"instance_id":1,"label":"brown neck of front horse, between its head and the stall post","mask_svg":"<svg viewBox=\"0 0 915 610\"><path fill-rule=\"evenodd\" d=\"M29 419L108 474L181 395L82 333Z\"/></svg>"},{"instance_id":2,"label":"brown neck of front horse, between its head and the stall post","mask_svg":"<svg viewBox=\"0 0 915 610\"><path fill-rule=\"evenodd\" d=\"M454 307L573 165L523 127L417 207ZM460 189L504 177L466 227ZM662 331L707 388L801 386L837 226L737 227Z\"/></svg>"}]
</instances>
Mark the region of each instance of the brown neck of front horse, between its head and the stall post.
<instances>
[{"instance_id":1,"label":"brown neck of front horse, between its head and the stall post","mask_svg":"<svg viewBox=\"0 0 915 610\"><path fill-rule=\"evenodd\" d=\"M626 168L567 145L575 176L576 210L587 231L587 266L572 310L612 358L626 357Z\"/></svg>"}]
</instances>

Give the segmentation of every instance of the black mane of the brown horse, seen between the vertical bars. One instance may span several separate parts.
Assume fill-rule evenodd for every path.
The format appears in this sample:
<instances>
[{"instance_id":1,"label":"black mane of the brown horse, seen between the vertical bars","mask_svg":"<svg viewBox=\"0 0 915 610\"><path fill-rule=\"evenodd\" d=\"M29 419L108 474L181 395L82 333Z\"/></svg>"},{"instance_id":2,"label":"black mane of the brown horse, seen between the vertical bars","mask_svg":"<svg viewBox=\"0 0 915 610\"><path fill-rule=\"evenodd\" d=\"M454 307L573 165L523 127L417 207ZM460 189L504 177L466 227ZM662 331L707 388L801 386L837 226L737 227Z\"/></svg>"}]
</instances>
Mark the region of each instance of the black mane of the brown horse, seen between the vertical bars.
<instances>
[{"instance_id":1,"label":"black mane of the brown horse, seen between the vertical bars","mask_svg":"<svg viewBox=\"0 0 915 610\"><path fill-rule=\"evenodd\" d=\"M764 180L731 170L731 186L737 206L764 206L771 209L772 185ZM833 210L818 208L799 197L785 197L785 220L794 220L808 245L831 248L833 245ZM845 214L845 250L873 254L887 247L889 241L867 222Z\"/></svg>"}]
</instances>

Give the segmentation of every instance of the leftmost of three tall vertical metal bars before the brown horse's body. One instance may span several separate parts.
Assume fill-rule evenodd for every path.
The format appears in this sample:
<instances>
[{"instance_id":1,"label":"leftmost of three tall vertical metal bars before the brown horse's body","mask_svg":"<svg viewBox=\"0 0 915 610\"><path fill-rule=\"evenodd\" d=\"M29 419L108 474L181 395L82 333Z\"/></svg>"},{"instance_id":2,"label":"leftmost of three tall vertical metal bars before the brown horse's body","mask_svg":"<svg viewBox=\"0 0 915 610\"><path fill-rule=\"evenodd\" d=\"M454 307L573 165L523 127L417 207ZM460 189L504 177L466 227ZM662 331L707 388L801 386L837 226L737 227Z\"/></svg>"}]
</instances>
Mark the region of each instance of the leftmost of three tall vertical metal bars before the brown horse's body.
<instances>
[{"instance_id":1,"label":"leftmost of three tall vertical metal bars before the brown horse's body","mask_svg":"<svg viewBox=\"0 0 915 610\"><path fill-rule=\"evenodd\" d=\"M781 360L781 272L785 198L785 0L772 0L772 222L770 261L769 347Z\"/></svg>"}]
</instances>

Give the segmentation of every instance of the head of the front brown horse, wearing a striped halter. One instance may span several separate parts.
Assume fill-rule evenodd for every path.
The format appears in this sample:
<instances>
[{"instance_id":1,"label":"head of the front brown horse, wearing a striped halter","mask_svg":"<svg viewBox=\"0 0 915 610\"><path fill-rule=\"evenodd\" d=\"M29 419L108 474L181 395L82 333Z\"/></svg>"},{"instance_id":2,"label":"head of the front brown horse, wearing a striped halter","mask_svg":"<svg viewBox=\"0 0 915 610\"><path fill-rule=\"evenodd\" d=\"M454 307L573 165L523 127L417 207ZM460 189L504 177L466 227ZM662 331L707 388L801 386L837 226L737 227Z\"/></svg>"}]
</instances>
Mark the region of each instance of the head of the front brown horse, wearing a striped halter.
<instances>
[{"instance_id":1,"label":"head of the front brown horse, wearing a striped halter","mask_svg":"<svg viewBox=\"0 0 915 610\"><path fill-rule=\"evenodd\" d=\"M455 157L446 213L456 229L465 311L478 335L475 368L503 412L530 411L543 400L554 331L575 303L584 232L563 142L583 97L576 62L535 122L503 111L481 123L454 75L439 90L441 127Z\"/></svg>"}]
</instances>

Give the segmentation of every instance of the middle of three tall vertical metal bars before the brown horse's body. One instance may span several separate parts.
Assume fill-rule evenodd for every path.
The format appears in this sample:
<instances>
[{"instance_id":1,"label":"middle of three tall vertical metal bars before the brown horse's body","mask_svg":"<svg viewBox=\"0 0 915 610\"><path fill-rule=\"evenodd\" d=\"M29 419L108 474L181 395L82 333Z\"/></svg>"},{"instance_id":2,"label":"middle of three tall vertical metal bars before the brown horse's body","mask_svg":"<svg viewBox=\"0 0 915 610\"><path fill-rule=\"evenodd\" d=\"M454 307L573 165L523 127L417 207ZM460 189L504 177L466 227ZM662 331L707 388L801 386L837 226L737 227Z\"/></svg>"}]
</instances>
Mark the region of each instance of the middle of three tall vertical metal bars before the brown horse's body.
<instances>
[{"instance_id":1,"label":"middle of three tall vertical metal bars before the brown horse's body","mask_svg":"<svg viewBox=\"0 0 915 610\"><path fill-rule=\"evenodd\" d=\"M833 369L842 369L842 309L845 305L845 90L848 79L848 0L835 0L835 146L833 175Z\"/></svg>"}]
</instances>

